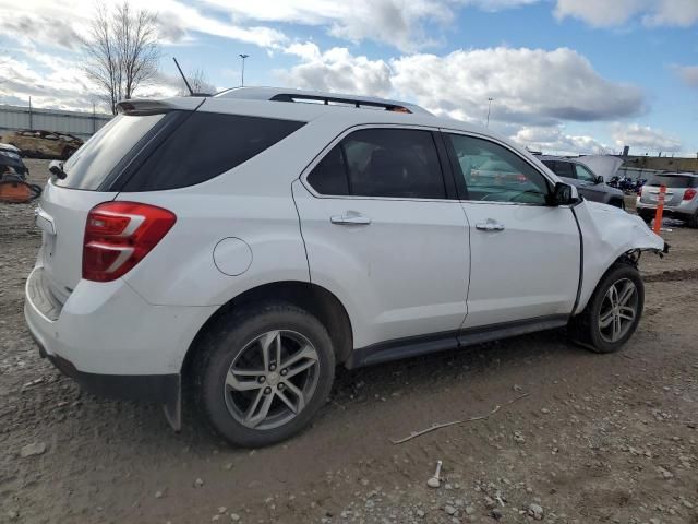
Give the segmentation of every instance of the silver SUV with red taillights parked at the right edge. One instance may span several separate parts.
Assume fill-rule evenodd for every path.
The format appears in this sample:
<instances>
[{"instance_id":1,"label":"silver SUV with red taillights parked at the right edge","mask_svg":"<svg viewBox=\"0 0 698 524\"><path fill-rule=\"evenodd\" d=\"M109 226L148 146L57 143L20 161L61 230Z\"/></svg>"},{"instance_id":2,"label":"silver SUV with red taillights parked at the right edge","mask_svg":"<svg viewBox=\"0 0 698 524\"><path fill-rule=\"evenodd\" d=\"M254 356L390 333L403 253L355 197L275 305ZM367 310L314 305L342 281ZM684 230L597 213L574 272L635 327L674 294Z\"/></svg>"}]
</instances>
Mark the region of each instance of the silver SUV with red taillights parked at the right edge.
<instances>
[{"instance_id":1,"label":"silver SUV with red taillights parked at the right edge","mask_svg":"<svg viewBox=\"0 0 698 524\"><path fill-rule=\"evenodd\" d=\"M661 186L666 187L663 216L686 221L688 227L698 228L698 175L690 172L652 175L637 198L637 214L648 224L652 222Z\"/></svg>"}]
</instances>

